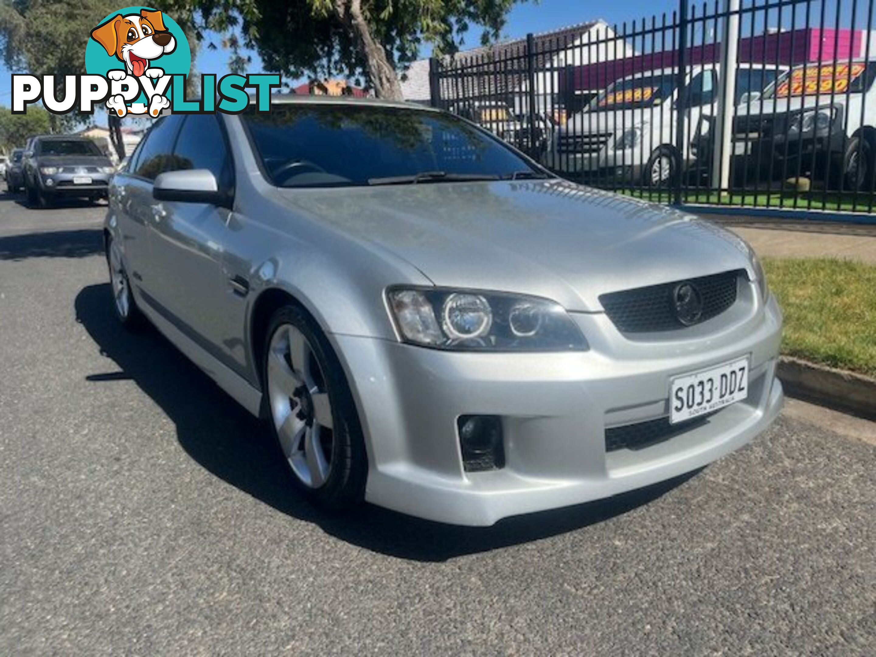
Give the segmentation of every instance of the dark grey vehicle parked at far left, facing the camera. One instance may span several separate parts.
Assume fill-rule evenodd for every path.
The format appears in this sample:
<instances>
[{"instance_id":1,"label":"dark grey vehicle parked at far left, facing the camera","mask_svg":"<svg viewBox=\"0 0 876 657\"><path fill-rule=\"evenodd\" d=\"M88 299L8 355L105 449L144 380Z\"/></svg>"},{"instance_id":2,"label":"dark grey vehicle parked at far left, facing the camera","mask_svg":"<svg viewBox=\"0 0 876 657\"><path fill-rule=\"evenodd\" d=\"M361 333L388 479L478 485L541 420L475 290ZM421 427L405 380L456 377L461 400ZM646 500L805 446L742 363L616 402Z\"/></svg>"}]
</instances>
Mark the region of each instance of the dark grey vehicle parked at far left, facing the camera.
<instances>
[{"instance_id":1,"label":"dark grey vehicle parked at far left, facing the camera","mask_svg":"<svg viewBox=\"0 0 876 657\"><path fill-rule=\"evenodd\" d=\"M43 135L28 142L22 171L28 202L45 207L61 197L106 198L116 168L91 139Z\"/></svg>"}]
</instances>

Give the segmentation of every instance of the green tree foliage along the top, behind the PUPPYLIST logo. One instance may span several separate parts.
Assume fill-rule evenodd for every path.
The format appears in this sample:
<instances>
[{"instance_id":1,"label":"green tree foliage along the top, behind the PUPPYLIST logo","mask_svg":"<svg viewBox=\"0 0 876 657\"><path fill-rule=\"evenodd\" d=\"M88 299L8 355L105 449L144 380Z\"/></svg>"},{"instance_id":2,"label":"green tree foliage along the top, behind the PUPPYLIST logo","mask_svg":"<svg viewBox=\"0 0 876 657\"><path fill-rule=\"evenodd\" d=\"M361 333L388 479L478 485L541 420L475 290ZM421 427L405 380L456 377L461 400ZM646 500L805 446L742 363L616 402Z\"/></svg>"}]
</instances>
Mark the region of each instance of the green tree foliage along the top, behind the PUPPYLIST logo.
<instances>
[{"instance_id":1,"label":"green tree foliage along the top, behind the PUPPYLIST logo","mask_svg":"<svg viewBox=\"0 0 876 657\"><path fill-rule=\"evenodd\" d=\"M265 69L286 78L342 75L369 83L380 60L404 70L420 47L453 53L470 25L484 25L481 42L498 39L518 0L161 0L189 38L193 56L208 30L226 34L232 70L248 67L242 46ZM124 3L122 3L124 4ZM97 21L119 8L108 0L0 0L0 48L8 67L33 74L85 73L84 48ZM361 11L378 46L367 52L351 12ZM49 46L50 45L50 46ZM213 46L215 47L215 46ZM75 117L74 122L77 120Z\"/></svg>"}]
</instances>

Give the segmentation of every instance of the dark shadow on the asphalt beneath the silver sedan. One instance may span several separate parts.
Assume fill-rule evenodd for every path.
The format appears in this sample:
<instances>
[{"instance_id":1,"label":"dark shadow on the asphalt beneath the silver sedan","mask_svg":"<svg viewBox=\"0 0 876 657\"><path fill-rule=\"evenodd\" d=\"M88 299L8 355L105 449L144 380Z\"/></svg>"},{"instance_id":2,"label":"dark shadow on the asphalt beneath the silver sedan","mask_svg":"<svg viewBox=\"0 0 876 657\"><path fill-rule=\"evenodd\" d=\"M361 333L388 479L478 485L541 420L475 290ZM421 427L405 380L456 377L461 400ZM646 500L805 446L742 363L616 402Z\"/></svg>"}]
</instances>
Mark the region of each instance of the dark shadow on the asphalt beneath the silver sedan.
<instances>
[{"instance_id":1,"label":"dark shadow on the asphalt beneath the silver sedan","mask_svg":"<svg viewBox=\"0 0 876 657\"><path fill-rule=\"evenodd\" d=\"M331 516L314 509L293 490L279 449L262 424L233 402L211 379L182 356L155 329L131 333L114 314L109 284L88 286L76 296L77 321L88 331L103 356L121 372L89 375L111 385L131 379L173 421L177 438L194 461L254 498L292 518L312 522L340 540L423 562L503 548L571 532L615 518L692 477L651 486L608 500L504 519L491 527L458 527L415 519L362 505L355 512Z\"/></svg>"}]
</instances>

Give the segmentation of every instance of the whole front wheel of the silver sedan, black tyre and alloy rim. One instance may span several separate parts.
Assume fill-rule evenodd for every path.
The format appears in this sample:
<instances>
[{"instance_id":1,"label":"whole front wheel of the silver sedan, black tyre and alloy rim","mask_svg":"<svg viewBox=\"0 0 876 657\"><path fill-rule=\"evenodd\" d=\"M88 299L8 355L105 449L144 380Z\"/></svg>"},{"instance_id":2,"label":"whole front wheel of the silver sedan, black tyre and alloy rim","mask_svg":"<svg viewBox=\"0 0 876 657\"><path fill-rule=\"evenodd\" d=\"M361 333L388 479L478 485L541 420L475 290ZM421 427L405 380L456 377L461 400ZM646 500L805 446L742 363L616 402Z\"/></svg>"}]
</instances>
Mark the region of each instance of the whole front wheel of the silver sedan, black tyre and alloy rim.
<instances>
[{"instance_id":1,"label":"whole front wheel of the silver sedan, black tyre and alloy rim","mask_svg":"<svg viewBox=\"0 0 876 657\"><path fill-rule=\"evenodd\" d=\"M262 360L266 415L293 481L314 505L344 511L364 495L368 460L341 364L300 307L273 314Z\"/></svg>"}]
</instances>

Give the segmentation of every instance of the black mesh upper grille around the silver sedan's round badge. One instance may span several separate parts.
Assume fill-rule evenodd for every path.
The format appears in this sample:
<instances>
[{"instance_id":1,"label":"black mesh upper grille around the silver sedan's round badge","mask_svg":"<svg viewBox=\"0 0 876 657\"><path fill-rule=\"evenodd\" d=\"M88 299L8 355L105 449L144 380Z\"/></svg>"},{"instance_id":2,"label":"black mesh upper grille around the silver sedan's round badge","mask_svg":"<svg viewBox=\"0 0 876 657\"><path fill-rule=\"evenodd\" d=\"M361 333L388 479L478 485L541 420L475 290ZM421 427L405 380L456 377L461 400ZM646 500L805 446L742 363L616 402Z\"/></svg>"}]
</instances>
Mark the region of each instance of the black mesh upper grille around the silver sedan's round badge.
<instances>
[{"instance_id":1,"label":"black mesh upper grille around the silver sedan's round badge","mask_svg":"<svg viewBox=\"0 0 876 657\"><path fill-rule=\"evenodd\" d=\"M745 270L723 272L698 279L679 280L656 286L637 287L622 292L602 294L605 313L621 333L648 333L684 329L723 313L736 302L738 278ZM689 283L702 300L702 313L696 322L682 323L675 312L675 287Z\"/></svg>"}]
</instances>

